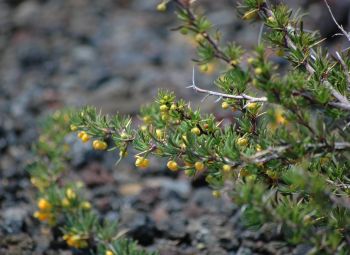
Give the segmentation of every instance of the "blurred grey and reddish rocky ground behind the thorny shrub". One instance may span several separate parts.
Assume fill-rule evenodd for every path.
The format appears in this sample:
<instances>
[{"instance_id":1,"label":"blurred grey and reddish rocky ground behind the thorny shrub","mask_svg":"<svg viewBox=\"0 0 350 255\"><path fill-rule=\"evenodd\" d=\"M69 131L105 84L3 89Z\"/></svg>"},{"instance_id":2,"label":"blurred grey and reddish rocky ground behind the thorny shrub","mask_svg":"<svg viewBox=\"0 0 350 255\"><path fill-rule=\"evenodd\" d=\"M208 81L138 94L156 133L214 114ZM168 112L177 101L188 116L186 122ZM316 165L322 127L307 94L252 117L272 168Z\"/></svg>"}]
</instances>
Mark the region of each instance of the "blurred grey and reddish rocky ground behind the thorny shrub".
<instances>
[{"instance_id":1,"label":"blurred grey and reddish rocky ground behind the thorny shrub","mask_svg":"<svg viewBox=\"0 0 350 255\"><path fill-rule=\"evenodd\" d=\"M190 40L171 33L173 10L155 12L157 0L0 0L0 254L72 254L52 241L32 218L35 191L25 166L38 136L38 121L65 106L95 105L136 116L158 88L199 104L185 89L194 57ZM247 47L258 26L242 24L234 1L203 1L209 16ZM289 1L300 7L300 1ZM310 5L308 25L335 33L324 6ZM316 1L315 1L316 2ZM335 2L346 23L348 1ZM306 6L305 5L305 6ZM307 7L307 6L306 6ZM323 17L319 21L320 17ZM324 25L325 23L326 25ZM338 41L333 41L334 48ZM211 78L198 75L203 86ZM211 100L205 110L218 108ZM117 167L113 153L94 153L75 142L70 170L88 187L101 216L119 220L128 235L161 254L305 254L289 249L269 229L252 232L227 197L214 199L202 179L170 174L165 162L134 169L132 158Z\"/></svg>"}]
</instances>

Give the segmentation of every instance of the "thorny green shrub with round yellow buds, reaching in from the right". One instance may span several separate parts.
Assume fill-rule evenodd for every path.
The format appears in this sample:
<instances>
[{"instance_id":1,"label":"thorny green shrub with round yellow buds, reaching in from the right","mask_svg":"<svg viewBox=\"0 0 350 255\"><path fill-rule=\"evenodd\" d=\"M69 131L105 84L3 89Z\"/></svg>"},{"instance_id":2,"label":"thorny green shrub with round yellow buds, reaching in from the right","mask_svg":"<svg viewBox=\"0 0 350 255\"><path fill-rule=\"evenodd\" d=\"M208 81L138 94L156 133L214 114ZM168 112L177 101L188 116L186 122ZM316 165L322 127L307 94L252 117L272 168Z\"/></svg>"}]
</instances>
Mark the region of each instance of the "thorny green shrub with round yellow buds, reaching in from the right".
<instances>
[{"instance_id":1,"label":"thorny green shrub with round yellow buds, reaching in from the right","mask_svg":"<svg viewBox=\"0 0 350 255\"><path fill-rule=\"evenodd\" d=\"M156 156L167 158L171 171L204 173L213 196L227 194L241 206L248 227L273 226L289 245L309 245L310 254L349 254L349 51L332 56L318 33L304 30L301 15L285 5L244 0L239 15L261 22L266 31L256 49L245 53L222 42L193 2L165 1L157 9L176 5L177 30L195 39L200 70L220 67L217 90L201 88L194 77L190 88L235 112L231 124L160 91L141 109L140 126L130 117L86 107L72 114L72 131L83 142L92 140L94 149L118 149L119 160L133 146L139 168L148 168ZM267 49L289 62L286 74ZM68 196L67 189L52 194ZM89 245L83 241L75 246Z\"/></svg>"}]
</instances>

